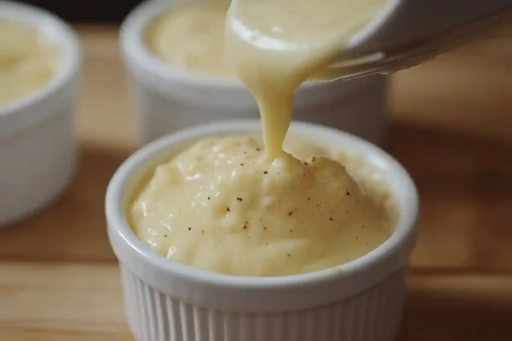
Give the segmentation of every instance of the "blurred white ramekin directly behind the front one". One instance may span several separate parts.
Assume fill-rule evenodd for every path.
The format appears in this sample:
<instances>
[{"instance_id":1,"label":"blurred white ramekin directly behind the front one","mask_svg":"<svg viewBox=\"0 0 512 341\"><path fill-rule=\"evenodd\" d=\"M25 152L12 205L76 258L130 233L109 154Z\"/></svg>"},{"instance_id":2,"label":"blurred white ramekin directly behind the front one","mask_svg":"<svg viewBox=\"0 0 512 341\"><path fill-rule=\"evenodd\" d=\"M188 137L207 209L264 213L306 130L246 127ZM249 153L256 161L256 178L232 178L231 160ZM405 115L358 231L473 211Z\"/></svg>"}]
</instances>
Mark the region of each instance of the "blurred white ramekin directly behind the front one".
<instances>
[{"instance_id":1,"label":"blurred white ramekin directly behind the front one","mask_svg":"<svg viewBox=\"0 0 512 341\"><path fill-rule=\"evenodd\" d=\"M144 2L121 27L120 43L141 144L191 125L259 117L254 99L238 80L173 69L146 49L146 24L162 11L190 1ZM387 87L385 75L304 83L296 93L293 118L343 129L379 144L386 132Z\"/></svg>"}]
</instances>

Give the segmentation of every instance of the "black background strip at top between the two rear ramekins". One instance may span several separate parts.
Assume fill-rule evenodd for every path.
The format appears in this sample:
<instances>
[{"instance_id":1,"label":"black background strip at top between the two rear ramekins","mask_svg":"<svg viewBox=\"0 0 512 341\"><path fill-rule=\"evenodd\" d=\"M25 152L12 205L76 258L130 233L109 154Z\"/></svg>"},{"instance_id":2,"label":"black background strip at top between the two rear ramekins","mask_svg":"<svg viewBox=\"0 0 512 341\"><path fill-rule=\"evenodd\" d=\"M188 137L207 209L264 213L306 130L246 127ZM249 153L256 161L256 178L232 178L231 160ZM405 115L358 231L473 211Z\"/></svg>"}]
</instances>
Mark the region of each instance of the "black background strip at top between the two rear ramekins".
<instances>
[{"instance_id":1,"label":"black background strip at top between the two rear ramekins","mask_svg":"<svg viewBox=\"0 0 512 341\"><path fill-rule=\"evenodd\" d=\"M73 24L119 24L141 0L28 0Z\"/></svg>"}]
</instances>

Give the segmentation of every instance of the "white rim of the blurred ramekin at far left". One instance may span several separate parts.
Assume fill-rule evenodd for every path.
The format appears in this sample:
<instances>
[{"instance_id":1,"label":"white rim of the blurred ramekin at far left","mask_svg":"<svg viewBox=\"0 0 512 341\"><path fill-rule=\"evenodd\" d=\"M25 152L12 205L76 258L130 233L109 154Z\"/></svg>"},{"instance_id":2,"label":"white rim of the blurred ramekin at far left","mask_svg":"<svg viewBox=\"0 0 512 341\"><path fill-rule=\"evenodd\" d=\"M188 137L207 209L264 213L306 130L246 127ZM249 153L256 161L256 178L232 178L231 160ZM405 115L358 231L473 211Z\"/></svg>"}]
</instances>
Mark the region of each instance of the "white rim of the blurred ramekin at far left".
<instances>
[{"instance_id":1,"label":"white rim of the blurred ramekin at far left","mask_svg":"<svg viewBox=\"0 0 512 341\"><path fill-rule=\"evenodd\" d=\"M78 73L82 57L78 35L66 21L57 15L37 6L13 1L0 0L0 8L8 8L12 11L28 11L32 16L47 18L52 22L52 25L62 33L63 41L59 41L58 45L65 47L65 50L69 51L66 55L62 56L66 58L65 67L59 70L48 83L27 96L16 99L6 105L0 105L0 120L2 120L3 118L16 115L19 111L36 106L47 98L58 94L58 92L70 83ZM8 16L5 15L3 17ZM17 20L15 19L15 21ZM36 27L36 29L40 28Z\"/></svg>"}]
</instances>

